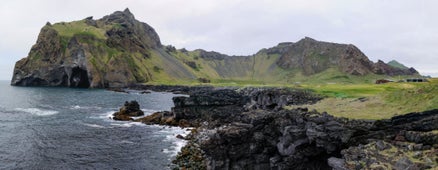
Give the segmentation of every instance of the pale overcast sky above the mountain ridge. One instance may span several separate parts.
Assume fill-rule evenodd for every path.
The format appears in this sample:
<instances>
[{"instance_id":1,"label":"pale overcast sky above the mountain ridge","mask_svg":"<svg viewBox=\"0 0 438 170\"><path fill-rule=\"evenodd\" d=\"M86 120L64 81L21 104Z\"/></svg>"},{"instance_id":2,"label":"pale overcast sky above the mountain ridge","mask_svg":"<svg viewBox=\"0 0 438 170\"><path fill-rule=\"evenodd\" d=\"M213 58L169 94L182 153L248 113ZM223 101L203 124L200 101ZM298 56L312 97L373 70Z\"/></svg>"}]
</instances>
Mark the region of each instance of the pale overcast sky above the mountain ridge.
<instances>
[{"instance_id":1,"label":"pale overcast sky above the mountain ridge","mask_svg":"<svg viewBox=\"0 0 438 170\"><path fill-rule=\"evenodd\" d=\"M127 7L177 48L250 55L308 36L354 44L374 62L395 59L438 76L434 0L4 0L0 80L11 79L47 21L98 19Z\"/></svg>"}]
</instances>

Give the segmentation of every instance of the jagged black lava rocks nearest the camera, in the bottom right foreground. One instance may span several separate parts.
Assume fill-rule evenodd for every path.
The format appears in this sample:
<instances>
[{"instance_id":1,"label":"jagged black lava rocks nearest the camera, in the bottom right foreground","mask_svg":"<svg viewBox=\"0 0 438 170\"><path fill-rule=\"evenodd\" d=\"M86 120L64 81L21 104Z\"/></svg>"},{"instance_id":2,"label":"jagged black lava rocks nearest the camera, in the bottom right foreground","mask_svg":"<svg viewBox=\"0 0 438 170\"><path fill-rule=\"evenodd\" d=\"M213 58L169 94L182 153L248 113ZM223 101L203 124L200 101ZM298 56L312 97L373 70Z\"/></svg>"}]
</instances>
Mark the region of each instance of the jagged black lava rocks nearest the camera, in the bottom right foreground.
<instances>
[{"instance_id":1,"label":"jagged black lava rocks nearest the camera, in the bottom right foreground","mask_svg":"<svg viewBox=\"0 0 438 170\"><path fill-rule=\"evenodd\" d=\"M420 116L418 122L426 126L436 124L437 115L434 111L434 115L427 118ZM389 124L388 129L375 131L377 125L373 122L366 126L366 122L347 122L305 110L251 111L242 113L236 120L240 121L202 129L194 137L205 154L208 168L366 169L380 166L425 169L438 166L435 160L438 143L433 132L405 132L403 137L410 133L411 140L400 143L397 141L400 133L395 133L398 128L391 128ZM400 128L409 129L410 123L400 122ZM381 146L381 140L393 144ZM375 149L379 147L380 150ZM408 155L416 156L406 158ZM416 159L421 161L414 162Z\"/></svg>"}]
</instances>

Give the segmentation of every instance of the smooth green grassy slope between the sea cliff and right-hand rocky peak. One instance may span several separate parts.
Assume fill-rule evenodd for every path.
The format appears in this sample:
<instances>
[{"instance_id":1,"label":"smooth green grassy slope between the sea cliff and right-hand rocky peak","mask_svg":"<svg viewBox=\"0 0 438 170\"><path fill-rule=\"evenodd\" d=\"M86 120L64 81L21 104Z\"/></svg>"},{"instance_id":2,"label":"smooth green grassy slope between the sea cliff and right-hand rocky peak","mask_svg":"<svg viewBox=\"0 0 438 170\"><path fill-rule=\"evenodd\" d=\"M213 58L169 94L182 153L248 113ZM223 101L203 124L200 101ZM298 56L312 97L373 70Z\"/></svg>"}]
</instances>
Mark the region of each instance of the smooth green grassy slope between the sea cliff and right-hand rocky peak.
<instances>
[{"instance_id":1,"label":"smooth green grassy slope between the sea cliff and right-hand rocky peak","mask_svg":"<svg viewBox=\"0 0 438 170\"><path fill-rule=\"evenodd\" d=\"M191 79L154 79L148 84L200 84L199 78L210 80L211 85L219 86L280 86L297 84L357 84L374 83L377 79L398 80L403 77L367 74L351 75L338 68L329 68L323 72L304 75L300 69L283 69L276 62L279 54L257 53L253 56L226 56L223 59L205 58L200 50L166 50L182 63L183 70L194 75ZM160 59L158 59L160 60ZM159 62L155 65L162 65ZM162 68L162 67L160 67ZM152 73L154 74L154 73Z\"/></svg>"}]
</instances>

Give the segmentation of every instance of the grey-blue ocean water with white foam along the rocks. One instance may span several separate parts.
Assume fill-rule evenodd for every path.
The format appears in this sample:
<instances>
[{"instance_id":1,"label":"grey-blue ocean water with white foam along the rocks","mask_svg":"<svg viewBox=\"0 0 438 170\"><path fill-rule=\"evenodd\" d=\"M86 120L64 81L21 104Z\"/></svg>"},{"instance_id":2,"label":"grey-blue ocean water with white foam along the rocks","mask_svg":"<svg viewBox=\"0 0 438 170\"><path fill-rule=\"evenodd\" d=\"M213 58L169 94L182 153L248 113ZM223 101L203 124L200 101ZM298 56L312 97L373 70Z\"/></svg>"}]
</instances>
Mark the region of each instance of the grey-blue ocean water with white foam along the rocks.
<instances>
[{"instance_id":1,"label":"grey-blue ocean water with white foam along the rocks","mask_svg":"<svg viewBox=\"0 0 438 170\"><path fill-rule=\"evenodd\" d=\"M170 110L173 96L0 81L0 169L169 169L186 129L109 117L128 100L146 115Z\"/></svg>"}]
</instances>

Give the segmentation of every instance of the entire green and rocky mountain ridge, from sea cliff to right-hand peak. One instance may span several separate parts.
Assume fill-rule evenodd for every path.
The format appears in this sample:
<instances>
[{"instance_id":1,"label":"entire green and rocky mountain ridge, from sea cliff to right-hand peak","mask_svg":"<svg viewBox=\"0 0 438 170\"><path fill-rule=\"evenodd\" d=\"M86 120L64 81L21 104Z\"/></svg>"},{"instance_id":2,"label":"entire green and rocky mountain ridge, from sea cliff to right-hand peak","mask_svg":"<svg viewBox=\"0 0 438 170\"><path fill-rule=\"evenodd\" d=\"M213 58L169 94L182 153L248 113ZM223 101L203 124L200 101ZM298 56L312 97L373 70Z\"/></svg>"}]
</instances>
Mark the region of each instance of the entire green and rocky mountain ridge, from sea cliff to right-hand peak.
<instances>
[{"instance_id":1,"label":"entire green and rocky mountain ridge, from sea cliff to right-hand peak","mask_svg":"<svg viewBox=\"0 0 438 170\"><path fill-rule=\"evenodd\" d=\"M126 9L101 19L47 23L12 85L124 87L136 83L355 83L418 74L373 63L357 47L304 38L250 56L163 46L158 34Z\"/></svg>"}]
</instances>

